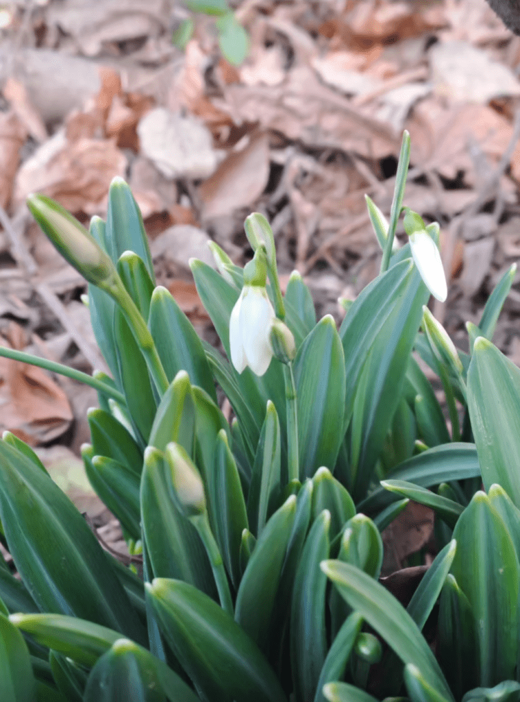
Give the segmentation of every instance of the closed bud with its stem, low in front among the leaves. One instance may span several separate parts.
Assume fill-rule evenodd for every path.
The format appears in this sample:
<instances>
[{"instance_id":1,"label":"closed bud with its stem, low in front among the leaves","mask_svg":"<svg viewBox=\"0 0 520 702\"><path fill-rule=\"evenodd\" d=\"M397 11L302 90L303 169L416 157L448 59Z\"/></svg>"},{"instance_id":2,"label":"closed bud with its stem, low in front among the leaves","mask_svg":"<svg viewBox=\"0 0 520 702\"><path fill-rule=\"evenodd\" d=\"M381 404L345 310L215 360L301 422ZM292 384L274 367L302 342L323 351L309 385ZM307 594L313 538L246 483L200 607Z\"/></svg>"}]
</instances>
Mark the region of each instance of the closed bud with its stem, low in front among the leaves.
<instances>
[{"instance_id":1,"label":"closed bud with its stem, low in front among the leaves","mask_svg":"<svg viewBox=\"0 0 520 702\"><path fill-rule=\"evenodd\" d=\"M175 444L175 442L167 444L164 457L166 465L171 470L173 500L180 512L192 522L202 543L204 543L217 585L220 606L231 616L234 616L233 600L231 592L229 592L224 562L208 519L206 494L201 474L180 444Z\"/></svg>"}]
</instances>

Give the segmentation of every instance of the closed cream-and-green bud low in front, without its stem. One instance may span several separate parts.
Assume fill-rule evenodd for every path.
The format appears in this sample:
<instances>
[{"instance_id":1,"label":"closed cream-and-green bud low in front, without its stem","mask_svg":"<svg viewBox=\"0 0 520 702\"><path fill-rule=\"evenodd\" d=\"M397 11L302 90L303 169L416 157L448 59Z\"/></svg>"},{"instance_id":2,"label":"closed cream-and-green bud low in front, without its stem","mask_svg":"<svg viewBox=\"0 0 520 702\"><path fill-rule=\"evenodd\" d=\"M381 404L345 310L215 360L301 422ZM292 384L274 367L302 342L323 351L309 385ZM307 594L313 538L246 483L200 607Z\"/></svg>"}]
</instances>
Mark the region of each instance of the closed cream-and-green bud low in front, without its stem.
<instances>
[{"instance_id":1,"label":"closed cream-and-green bud low in front, without its stem","mask_svg":"<svg viewBox=\"0 0 520 702\"><path fill-rule=\"evenodd\" d=\"M185 449L171 442L164 453L171 470L173 498L185 517L199 517L206 512L206 495L201 474Z\"/></svg>"}]
</instances>

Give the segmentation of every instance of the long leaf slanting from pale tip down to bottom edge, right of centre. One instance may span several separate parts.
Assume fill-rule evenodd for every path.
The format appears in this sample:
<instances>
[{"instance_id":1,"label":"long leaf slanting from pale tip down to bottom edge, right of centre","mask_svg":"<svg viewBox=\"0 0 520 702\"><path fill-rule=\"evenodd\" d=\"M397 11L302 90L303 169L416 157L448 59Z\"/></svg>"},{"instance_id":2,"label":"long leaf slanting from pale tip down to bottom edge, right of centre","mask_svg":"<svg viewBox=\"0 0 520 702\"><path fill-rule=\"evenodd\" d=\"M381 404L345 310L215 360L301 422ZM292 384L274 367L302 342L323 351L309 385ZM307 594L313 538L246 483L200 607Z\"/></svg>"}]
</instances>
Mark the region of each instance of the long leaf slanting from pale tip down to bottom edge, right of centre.
<instances>
[{"instance_id":1,"label":"long leaf slanting from pale tip down to bottom edge, right of centre","mask_svg":"<svg viewBox=\"0 0 520 702\"><path fill-rule=\"evenodd\" d=\"M401 661L405 665L417 665L425 680L453 702L448 684L425 638L393 595L371 576L349 564L326 561L321 564L321 569L352 609L366 619Z\"/></svg>"}]
</instances>

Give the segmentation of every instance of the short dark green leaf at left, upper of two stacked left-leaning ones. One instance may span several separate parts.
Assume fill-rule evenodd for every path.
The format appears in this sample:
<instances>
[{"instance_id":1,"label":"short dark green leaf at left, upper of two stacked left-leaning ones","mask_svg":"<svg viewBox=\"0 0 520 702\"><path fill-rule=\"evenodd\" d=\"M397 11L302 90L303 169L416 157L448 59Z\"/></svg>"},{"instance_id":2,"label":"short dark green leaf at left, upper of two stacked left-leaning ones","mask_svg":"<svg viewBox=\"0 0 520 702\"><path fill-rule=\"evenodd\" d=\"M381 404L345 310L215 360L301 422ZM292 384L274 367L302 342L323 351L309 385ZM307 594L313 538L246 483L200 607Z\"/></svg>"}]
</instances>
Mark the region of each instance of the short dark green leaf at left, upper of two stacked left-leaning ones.
<instances>
[{"instance_id":1,"label":"short dark green leaf at left, upper of two stacked left-leaning ones","mask_svg":"<svg viewBox=\"0 0 520 702\"><path fill-rule=\"evenodd\" d=\"M121 422L105 410L94 408L88 410L87 418L93 455L114 458L135 475L141 475L142 451Z\"/></svg>"}]
</instances>

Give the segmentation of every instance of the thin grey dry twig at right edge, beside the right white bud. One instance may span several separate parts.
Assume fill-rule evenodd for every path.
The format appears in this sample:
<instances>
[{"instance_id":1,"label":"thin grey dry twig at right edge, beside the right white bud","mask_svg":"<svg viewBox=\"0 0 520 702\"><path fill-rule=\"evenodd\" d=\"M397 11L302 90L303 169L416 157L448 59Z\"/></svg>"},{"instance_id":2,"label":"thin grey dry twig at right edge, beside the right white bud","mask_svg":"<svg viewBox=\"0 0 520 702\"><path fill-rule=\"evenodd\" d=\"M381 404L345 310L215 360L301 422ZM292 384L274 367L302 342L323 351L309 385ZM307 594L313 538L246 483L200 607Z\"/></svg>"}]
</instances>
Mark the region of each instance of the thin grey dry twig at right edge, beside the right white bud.
<instances>
[{"instance_id":1,"label":"thin grey dry twig at right edge, beside the right white bud","mask_svg":"<svg viewBox=\"0 0 520 702\"><path fill-rule=\"evenodd\" d=\"M486 180L484 180L484 183L482 183L481 187L479 187L474 201L470 203L457 218L452 220L451 225L448 229L448 241L446 246L446 253L444 255L444 268L448 272L448 284L449 277L451 275L451 265L453 262L453 256L455 254L455 246L457 245L457 241L460 236L462 227L469 218L474 217L477 213L479 213L481 208L489 200L491 194L493 194L493 192L499 188L500 178L502 178L503 174L507 169L507 166L509 166L514 149L516 147L516 143L518 142L519 138L520 109L516 110L516 113L514 115L513 133L505 152L502 154L500 161L498 161L498 166L495 168L493 173L491 173L491 176L489 176L489 178L486 178ZM439 302L439 300L435 300L433 309L434 317L436 317L436 319L438 319L439 322L441 322L441 324L444 322L444 310L444 303Z\"/></svg>"}]
</instances>

